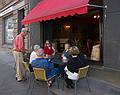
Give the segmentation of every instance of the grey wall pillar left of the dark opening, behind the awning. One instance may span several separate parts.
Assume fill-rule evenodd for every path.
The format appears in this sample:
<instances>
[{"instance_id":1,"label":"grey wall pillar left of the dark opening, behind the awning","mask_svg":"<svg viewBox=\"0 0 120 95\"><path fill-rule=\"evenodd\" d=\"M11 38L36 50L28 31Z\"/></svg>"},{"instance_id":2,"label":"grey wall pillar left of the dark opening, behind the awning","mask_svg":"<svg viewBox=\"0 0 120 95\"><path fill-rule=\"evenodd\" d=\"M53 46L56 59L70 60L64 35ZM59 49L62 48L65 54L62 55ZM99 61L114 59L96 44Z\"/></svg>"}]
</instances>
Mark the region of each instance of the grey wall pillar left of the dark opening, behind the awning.
<instances>
[{"instance_id":1,"label":"grey wall pillar left of the dark opening, behind the awning","mask_svg":"<svg viewBox=\"0 0 120 95\"><path fill-rule=\"evenodd\" d=\"M29 9L34 8L41 0L30 0L29 1ZM38 44L42 46L43 43L43 31L42 25L40 22L32 23L29 25L30 29L30 48L33 45Z\"/></svg>"}]
</instances>

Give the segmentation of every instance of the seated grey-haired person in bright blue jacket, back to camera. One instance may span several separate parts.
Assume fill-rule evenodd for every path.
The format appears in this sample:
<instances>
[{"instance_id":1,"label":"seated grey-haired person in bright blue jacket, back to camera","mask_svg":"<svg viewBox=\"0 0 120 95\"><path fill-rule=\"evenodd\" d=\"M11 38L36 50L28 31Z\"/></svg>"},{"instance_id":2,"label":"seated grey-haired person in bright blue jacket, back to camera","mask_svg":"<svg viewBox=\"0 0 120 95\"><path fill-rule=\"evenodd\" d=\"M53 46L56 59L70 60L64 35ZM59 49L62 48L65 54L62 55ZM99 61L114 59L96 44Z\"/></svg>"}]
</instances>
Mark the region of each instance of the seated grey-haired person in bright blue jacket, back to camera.
<instances>
[{"instance_id":1,"label":"seated grey-haired person in bright blue jacket, back to camera","mask_svg":"<svg viewBox=\"0 0 120 95\"><path fill-rule=\"evenodd\" d=\"M53 75L59 73L58 68L54 68L54 65L44 58L44 50L39 49L36 51L37 58L32 61L31 66L36 68L44 68L46 70L46 77L50 78Z\"/></svg>"}]
</instances>

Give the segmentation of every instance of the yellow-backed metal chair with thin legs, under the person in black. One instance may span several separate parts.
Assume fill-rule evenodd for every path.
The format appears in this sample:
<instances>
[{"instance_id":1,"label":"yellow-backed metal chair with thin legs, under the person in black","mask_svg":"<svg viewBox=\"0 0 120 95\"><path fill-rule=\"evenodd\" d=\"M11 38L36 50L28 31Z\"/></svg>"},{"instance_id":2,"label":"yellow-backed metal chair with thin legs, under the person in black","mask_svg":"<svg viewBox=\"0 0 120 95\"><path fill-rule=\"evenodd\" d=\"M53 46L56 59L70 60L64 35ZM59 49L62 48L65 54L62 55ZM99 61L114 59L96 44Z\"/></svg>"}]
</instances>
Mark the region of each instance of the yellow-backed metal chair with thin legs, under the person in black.
<instances>
[{"instance_id":1,"label":"yellow-backed metal chair with thin legs, under the person in black","mask_svg":"<svg viewBox=\"0 0 120 95\"><path fill-rule=\"evenodd\" d=\"M88 69L89 69L89 65L85 66L85 67L82 67L82 68L79 68L79 71L78 71L78 80L75 80L75 95L77 95L77 82L82 79L82 78L85 78L86 81L87 81L87 84L88 84L88 89L89 89L89 92L91 91L90 90L90 87L89 87L89 82L88 82L88 79L87 79L87 73L88 73Z\"/></svg>"}]
</instances>

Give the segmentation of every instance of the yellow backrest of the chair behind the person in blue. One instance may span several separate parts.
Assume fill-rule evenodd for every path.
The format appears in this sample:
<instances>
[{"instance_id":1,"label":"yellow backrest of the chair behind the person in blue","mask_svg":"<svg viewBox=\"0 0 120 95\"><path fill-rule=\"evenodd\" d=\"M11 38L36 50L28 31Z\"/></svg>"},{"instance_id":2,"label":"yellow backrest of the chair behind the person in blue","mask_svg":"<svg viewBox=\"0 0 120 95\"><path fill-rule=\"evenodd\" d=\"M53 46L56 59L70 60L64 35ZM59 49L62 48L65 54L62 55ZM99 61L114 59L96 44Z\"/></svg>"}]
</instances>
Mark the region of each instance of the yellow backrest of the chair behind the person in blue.
<instances>
[{"instance_id":1,"label":"yellow backrest of the chair behind the person in blue","mask_svg":"<svg viewBox=\"0 0 120 95\"><path fill-rule=\"evenodd\" d=\"M33 68L33 71L34 71L34 75L35 75L36 80L42 80L42 81L47 80L45 69L43 69L43 68Z\"/></svg>"}]
</instances>

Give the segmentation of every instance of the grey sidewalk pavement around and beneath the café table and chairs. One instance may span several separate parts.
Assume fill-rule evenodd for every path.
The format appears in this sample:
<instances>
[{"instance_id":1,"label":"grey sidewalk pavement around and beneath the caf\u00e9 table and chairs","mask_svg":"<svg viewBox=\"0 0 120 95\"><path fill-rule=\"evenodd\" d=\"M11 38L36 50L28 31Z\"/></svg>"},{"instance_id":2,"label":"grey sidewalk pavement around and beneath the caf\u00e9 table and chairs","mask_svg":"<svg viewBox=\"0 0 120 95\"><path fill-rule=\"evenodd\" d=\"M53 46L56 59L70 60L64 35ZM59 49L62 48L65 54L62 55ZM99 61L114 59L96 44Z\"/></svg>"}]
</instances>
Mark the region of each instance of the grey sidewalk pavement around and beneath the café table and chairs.
<instances>
[{"instance_id":1,"label":"grey sidewalk pavement around and beneath the caf\u00e9 table and chairs","mask_svg":"<svg viewBox=\"0 0 120 95\"><path fill-rule=\"evenodd\" d=\"M15 80L14 64L11 50L0 48L0 95L30 95L27 93L28 81ZM80 80L77 95L120 95L119 71L92 66L88 75L91 92L88 91L86 80ZM47 95L47 87L36 84L32 92L32 95ZM74 89L65 87L62 91L53 84L50 95L74 95Z\"/></svg>"}]
</instances>

